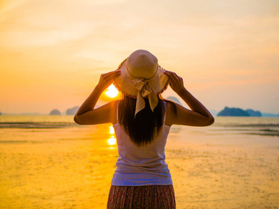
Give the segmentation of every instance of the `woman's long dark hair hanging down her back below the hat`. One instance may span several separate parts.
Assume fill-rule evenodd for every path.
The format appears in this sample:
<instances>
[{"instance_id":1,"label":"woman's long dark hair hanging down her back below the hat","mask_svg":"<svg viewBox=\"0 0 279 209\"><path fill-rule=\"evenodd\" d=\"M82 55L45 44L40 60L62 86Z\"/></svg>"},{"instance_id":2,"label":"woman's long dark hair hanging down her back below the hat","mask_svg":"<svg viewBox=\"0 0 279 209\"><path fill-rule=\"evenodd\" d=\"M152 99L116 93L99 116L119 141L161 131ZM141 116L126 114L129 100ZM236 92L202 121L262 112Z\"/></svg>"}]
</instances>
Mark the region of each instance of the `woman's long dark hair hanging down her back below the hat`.
<instances>
[{"instance_id":1,"label":"woman's long dark hair hanging down her back below the hat","mask_svg":"<svg viewBox=\"0 0 279 209\"><path fill-rule=\"evenodd\" d=\"M136 99L124 95L123 100L119 102L119 123L123 125L124 131L134 144L144 146L151 143L162 129L166 106L163 98L158 94L158 105L152 111L146 98L144 109L135 117L136 102ZM173 106L176 112L176 105Z\"/></svg>"}]
</instances>

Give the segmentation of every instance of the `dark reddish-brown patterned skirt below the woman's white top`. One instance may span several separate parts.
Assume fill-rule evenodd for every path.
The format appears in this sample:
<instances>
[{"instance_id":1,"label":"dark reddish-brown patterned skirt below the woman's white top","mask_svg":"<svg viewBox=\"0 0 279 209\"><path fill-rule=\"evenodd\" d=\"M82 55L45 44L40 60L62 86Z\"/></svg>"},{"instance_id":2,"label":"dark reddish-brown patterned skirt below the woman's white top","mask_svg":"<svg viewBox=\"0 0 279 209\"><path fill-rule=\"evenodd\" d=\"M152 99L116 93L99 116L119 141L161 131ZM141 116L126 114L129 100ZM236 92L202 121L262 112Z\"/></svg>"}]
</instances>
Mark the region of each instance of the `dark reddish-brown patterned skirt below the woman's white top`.
<instances>
[{"instance_id":1,"label":"dark reddish-brown patterned skirt below the woman's white top","mask_svg":"<svg viewBox=\"0 0 279 209\"><path fill-rule=\"evenodd\" d=\"M172 185L110 187L108 209L175 209Z\"/></svg>"}]
</instances>

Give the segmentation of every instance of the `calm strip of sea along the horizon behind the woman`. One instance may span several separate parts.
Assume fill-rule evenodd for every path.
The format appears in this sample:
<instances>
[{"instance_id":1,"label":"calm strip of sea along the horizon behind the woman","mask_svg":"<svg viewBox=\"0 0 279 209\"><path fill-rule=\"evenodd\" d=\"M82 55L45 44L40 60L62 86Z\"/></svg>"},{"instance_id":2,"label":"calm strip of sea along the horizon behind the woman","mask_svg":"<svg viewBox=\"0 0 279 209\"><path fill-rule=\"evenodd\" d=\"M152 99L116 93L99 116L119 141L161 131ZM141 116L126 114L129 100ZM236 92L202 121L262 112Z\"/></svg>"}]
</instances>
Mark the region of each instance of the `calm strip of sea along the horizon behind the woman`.
<instances>
[{"instance_id":1,"label":"calm strip of sea along the horizon behind the woman","mask_svg":"<svg viewBox=\"0 0 279 209\"><path fill-rule=\"evenodd\" d=\"M108 124L107 124L108 125ZM102 126L102 125L99 125ZM73 127L92 127L75 124L73 116L0 116L0 129L56 129ZM197 130L206 134L257 134L262 136L279 136L279 118L261 117L216 117L210 127L183 127L173 125L171 132ZM7 140L0 137L0 140Z\"/></svg>"}]
</instances>

